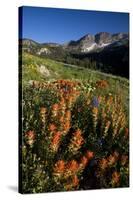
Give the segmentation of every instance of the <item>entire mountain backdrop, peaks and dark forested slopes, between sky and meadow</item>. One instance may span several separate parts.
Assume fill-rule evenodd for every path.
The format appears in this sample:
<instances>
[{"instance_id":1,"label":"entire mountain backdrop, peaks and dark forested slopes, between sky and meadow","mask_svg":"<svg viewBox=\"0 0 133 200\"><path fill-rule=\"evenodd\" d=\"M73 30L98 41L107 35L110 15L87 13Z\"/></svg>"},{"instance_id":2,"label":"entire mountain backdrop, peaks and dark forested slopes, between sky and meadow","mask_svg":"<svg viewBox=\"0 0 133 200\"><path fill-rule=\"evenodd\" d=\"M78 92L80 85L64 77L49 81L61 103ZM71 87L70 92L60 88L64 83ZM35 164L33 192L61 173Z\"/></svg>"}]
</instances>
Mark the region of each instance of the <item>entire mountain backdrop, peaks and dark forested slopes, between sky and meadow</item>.
<instances>
[{"instance_id":1,"label":"entire mountain backdrop, peaks and dark forested slopes, between sky and meadow","mask_svg":"<svg viewBox=\"0 0 133 200\"><path fill-rule=\"evenodd\" d=\"M100 32L87 34L67 44L37 43L30 39L20 40L23 52L100 70L118 76L129 77L129 35Z\"/></svg>"}]
</instances>

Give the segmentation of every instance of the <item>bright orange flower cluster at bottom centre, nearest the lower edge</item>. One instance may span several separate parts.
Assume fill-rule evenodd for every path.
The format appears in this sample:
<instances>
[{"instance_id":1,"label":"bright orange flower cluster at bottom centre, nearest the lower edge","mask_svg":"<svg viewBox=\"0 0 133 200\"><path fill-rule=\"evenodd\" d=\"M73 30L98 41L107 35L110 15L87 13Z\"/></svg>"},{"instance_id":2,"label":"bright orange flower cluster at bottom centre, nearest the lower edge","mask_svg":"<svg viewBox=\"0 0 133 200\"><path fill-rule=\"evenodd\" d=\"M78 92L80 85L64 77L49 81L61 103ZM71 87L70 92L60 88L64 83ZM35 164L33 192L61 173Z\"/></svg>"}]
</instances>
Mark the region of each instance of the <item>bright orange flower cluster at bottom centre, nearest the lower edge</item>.
<instances>
[{"instance_id":1,"label":"bright orange flower cluster at bottom centre, nearest the lower edge","mask_svg":"<svg viewBox=\"0 0 133 200\"><path fill-rule=\"evenodd\" d=\"M79 186L79 176L89 161L94 157L92 151L87 151L79 161L76 160L58 160L53 168L54 180L57 184L63 184L66 190L72 190Z\"/></svg>"}]
</instances>

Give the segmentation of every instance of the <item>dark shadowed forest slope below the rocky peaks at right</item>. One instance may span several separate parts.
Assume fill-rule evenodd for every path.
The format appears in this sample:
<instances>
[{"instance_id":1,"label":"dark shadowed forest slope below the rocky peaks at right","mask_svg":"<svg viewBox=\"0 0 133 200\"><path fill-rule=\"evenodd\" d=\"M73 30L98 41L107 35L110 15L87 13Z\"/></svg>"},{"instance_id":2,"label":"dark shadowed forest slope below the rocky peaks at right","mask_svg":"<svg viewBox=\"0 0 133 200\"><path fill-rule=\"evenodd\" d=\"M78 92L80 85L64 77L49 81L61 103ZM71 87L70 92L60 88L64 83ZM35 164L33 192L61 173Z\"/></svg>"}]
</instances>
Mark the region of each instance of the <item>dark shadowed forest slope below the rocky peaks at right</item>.
<instances>
[{"instance_id":1,"label":"dark shadowed forest slope below the rocky peaks at right","mask_svg":"<svg viewBox=\"0 0 133 200\"><path fill-rule=\"evenodd\" d=\"M73 53L72 57L85 63L91 60L97 70L129 78L129 46L126 44L113 44L99 52Z\"/></svg>"}]
</instances>

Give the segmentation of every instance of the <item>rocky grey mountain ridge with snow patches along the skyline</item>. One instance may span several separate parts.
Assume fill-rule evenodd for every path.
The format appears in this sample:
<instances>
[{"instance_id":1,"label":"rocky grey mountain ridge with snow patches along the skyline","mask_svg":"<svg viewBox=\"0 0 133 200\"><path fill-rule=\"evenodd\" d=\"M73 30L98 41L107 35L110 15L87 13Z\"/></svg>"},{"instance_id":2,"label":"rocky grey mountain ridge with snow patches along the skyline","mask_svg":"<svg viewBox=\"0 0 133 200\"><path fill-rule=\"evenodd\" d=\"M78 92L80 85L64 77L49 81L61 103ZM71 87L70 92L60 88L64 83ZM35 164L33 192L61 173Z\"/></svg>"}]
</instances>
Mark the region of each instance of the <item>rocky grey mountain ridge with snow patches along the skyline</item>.
<instances>
[{"instance_id":1,"label":"rocky grey mountain ridge with snow patches along the skyline","mask_svg":"<svg viewBox=\"0 0 133 200\"><path fill-rule=\"evenodd\" d=\"M78 40L71 40L64 44L59 44L56 42L45 42L39 43L35 40L24 38L20 39L22 41L23 46L27 47L35 47L35 46L51 46L51 47L62 47L68 51L80 51L80 52L91 52L92 50L104 49L104 47L109 46L114 42L119 42L122 40L128 40L129 33L114 33L111 34L109 32L99 32L95 35L86 34Z\"/></svg>"}]
</instances>

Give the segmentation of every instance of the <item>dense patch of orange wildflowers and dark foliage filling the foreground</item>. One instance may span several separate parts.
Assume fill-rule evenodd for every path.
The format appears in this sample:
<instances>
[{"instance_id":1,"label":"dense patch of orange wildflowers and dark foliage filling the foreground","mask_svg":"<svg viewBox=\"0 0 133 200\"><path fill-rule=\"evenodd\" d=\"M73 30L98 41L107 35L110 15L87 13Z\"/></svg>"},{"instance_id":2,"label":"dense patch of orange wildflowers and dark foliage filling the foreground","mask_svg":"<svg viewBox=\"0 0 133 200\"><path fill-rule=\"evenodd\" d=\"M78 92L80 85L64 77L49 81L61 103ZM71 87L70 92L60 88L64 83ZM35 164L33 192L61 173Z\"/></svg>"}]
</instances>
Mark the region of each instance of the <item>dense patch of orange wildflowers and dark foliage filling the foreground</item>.
<instances>
[{"instance_id":1,"label":"dense patch of orange wildflowers and dark foliage filling the foreground","mask_svg":"<svg viewBox=\"0 0 133 200\"><path fill-rule=\"evenodd\" d=\"M23 193L127 187L129 131L106 81L33 82L23 92Z\"/></svg>"}]
</instances>

